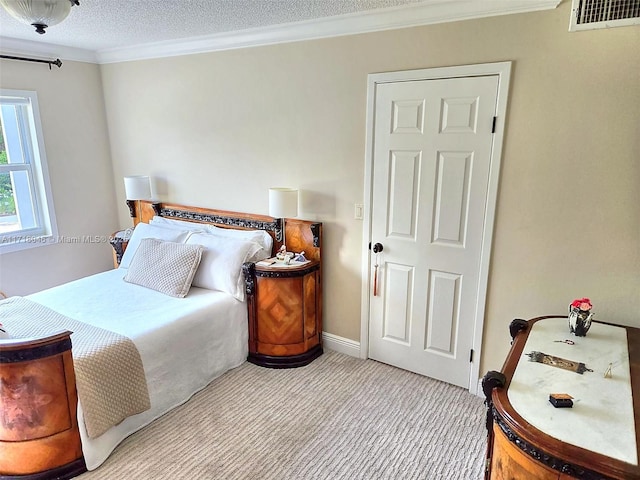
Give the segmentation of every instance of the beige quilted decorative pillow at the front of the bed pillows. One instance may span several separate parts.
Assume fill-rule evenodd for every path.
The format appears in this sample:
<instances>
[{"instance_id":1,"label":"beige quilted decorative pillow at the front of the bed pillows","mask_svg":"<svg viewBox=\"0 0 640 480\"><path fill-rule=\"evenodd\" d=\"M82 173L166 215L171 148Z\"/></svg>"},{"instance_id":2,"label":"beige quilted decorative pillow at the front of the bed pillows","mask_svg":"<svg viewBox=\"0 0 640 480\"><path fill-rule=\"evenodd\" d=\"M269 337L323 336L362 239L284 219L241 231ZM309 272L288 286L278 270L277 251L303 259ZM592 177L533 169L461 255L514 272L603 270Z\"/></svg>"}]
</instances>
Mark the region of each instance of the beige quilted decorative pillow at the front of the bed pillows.
<instances>
[{"instance_id":1,"label":"beige quilted decorative pillow at the front of the bed pillows","mask_svg":"<svg viewBox=\"0 0 640 480\"><path fill-rule=\"evenodd\" d=\"M124 281L182 298L191 288L203 248L202 245L143 238Z\"/></svg>"}]
</instances>

